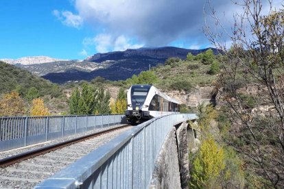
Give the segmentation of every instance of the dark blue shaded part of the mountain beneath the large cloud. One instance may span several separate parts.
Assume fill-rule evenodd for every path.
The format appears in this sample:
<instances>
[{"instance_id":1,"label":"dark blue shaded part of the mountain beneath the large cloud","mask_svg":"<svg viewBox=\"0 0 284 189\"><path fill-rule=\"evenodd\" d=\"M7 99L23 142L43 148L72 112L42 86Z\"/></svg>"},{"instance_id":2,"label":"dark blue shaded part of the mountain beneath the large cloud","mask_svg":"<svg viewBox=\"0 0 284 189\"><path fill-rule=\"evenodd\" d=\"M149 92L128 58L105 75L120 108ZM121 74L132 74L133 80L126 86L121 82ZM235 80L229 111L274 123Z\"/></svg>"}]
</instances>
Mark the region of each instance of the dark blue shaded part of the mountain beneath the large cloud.
<instances>
[{"instance_id":1,"label":"dark blue shaded part of the mountain beneath the large cloud","mask_svg":"<svg viewBox=\"0 0 284 189\"><path fill-rule=\"evenodd\" d=\"M164 64L167 58L187 58L187 53L197 55L207 51L208 49L192 50L177 47L159 47L159 48L141 48L127 49L126 51L115 51L110 53L97 53L84 61L98 62L106 65L103 68L97 68L94 71L82 71L71 68L68 71L60 73L48 73L43 78L58 84L68 81L90 81L97 76L104 77L111 81L124 80L138 75L141 71L146 71L149 66ZM213 49L213 53L217 54L217 49Z\"/></svg>"}]
</instances>

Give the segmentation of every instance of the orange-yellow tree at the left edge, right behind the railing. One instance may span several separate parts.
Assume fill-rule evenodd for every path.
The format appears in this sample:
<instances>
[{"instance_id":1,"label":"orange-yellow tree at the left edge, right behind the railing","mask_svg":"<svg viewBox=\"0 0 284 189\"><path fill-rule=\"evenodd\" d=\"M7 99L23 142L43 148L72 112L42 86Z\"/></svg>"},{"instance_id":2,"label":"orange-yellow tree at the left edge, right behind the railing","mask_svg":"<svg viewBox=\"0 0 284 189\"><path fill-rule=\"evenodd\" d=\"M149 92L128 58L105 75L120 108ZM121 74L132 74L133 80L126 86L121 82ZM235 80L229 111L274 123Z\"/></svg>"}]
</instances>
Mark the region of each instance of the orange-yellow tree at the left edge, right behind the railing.
<instances>
[{"instance_id":1,"label":"orange-yellow tree at the left edge, right behind the railing","mask_svg":"<svg viewBox=\"0 0 284 189\"><path fill-rule=\"evenodd\" d=\"M0 116L20 116L25 114L25 103L18 92L10 92L0 99Z\"/></svg>"}]
</instances>

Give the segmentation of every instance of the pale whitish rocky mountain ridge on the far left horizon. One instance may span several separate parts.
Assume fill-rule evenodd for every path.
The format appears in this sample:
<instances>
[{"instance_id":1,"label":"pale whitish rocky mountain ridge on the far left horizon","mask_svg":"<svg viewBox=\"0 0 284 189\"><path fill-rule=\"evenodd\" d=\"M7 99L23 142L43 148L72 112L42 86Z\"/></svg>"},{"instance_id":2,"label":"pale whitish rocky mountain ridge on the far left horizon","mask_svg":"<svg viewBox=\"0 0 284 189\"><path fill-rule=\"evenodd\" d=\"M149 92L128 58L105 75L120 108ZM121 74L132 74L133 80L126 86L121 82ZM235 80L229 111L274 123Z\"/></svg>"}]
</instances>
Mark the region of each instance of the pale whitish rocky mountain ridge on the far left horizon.
<instances>
[{"instance_id":1,"label":"pale whitish rocky mountain ridge on the far left horizon","mask_svg":"<svg viewBox=\"0 0 284 189\"><path fill-rule=\"evenodd\" d=\"M48 56L30 56L30 57L23 57L19 59L0 59L2 62L6 62L8 64L43 64L47 62L57 62L57 61L64 61L57 58L50 58ZM66 60L65 60L66 61Z\"/></svg>"}]
</instances>

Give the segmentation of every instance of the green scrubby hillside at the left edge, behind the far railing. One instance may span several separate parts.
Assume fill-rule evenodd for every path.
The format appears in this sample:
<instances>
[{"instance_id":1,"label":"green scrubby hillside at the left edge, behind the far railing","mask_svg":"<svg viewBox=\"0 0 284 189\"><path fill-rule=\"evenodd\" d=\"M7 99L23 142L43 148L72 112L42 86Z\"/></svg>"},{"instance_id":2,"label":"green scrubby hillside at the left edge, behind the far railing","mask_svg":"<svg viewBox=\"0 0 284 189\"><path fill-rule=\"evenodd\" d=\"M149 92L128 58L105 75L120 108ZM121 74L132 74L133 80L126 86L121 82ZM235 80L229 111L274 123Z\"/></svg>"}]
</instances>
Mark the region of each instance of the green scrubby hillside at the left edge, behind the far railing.
<instances>
[{"instance_id":1,"label":"green scrubby hillside at the left edge, behind the far railing","mask_svg":"<svg viewBox=\"0 0 284 189\"><path fill-rule=\"evenodd\" d=\"M0 73L0 101L10 101L10 103L3 103L2 106L14 107L11 103L19 103L21 101L21 111L1 107L1 116L29 115L32 100L38 97L45 101L45 104L53 114L58 112L58 109L59 112L67 111L67 97L57 84L52 84L50 81L33 75L28 71L1 61Z\"/></svg>"}]
</instances>

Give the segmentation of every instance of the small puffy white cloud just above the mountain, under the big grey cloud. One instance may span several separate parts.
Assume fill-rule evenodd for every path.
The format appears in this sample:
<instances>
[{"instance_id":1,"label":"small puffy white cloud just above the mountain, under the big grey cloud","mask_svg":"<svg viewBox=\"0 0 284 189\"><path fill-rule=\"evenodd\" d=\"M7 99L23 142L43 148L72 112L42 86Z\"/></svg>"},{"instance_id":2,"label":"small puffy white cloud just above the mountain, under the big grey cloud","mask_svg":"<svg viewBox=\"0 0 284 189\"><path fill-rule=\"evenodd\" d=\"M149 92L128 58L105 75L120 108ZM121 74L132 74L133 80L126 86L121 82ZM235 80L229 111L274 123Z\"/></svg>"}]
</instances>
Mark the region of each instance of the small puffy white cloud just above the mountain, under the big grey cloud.
<instances>
[{"instance_id":1,"label":"small puffy white cloud just above the mountain, under the big grey cloud","mask_svg":"<svg viewBox=\"0 0 284 189\"><path fill-rule=\"evenodd\" d=\"M99 53L109 51L125 51L126 49L137 49L143 47L141 44L135 44L126 36L112 36L111 34L98 34L94 38L84 38L84 47L95 47Z\"/></svg>"}]
</instances>

